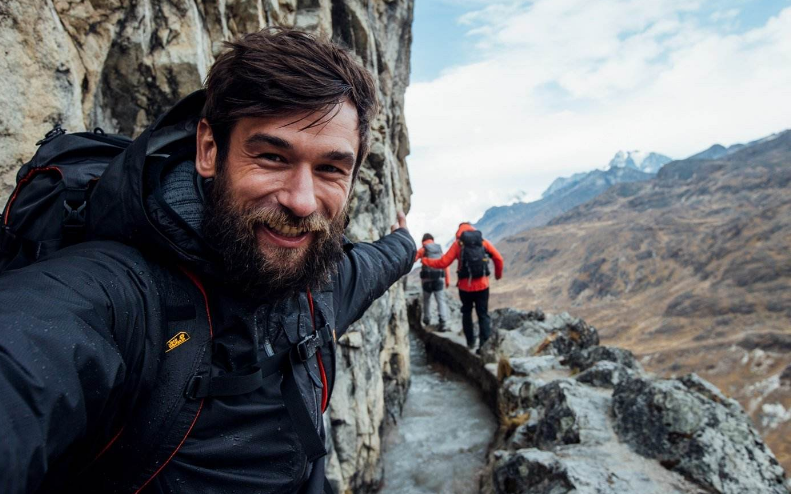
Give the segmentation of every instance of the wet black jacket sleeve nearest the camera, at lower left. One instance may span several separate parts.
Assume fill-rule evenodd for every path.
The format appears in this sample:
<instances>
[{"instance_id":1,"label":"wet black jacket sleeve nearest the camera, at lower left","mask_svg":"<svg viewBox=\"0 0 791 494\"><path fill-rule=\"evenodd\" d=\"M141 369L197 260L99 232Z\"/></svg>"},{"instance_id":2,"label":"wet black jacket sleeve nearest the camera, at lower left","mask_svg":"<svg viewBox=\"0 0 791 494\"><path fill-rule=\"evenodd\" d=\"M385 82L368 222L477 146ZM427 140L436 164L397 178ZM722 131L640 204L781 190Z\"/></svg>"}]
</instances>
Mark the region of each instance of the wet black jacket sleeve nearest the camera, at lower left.
<instances>
[{"instance_id":1,"label":"wet black jacket sleeve nearest the camera, at lower left","mask_svg":"<svg viewBox=\"0 0 791 494\"><path fill-rule=\"evenodd\" d=\"M122 355L135 358L143 311L159 309L140 296L151 289L141 267L118 263L117 253L60 254L0 276L3 493L35 491L70 445L109 427Z\"/></svg>"}]
</instances>

